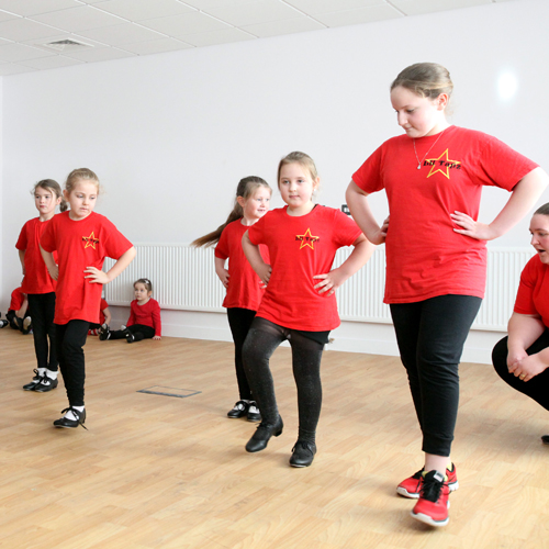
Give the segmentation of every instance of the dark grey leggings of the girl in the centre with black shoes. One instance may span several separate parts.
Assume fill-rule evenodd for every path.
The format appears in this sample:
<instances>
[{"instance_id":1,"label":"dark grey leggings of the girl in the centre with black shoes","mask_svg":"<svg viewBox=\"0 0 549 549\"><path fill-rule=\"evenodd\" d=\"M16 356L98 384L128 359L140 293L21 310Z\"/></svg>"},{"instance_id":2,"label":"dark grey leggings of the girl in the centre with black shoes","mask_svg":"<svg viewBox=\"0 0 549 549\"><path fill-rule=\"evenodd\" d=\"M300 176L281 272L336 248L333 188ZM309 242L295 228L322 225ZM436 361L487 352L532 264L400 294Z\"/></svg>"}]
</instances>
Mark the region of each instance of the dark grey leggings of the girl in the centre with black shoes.
<instances>
[{"instance_id":1,"label":"dark grey leggings of the girl in the centre with black shoes","mask_svg":"<svg viewBox=\"0 0 549 549\"><path fill-rule=\"evenodd\" d=\"M273 425L279 417L269 359L288 339L292 348L293 378L298 386L299 438L315 441L321 416L321 359L324 345L302 333L256 316L244 343L244 367L264 422Z\"/></svg>"}]
</instances>

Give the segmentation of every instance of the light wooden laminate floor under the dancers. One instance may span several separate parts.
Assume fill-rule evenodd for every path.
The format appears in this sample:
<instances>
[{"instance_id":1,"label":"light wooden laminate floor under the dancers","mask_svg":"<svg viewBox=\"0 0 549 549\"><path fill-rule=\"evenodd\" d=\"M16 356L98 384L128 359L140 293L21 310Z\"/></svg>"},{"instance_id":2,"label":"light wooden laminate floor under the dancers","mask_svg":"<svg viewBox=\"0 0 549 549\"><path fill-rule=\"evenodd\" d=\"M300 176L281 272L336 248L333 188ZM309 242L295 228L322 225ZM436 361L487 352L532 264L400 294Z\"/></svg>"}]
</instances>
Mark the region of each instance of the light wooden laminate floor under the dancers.
<instances>
[{"instance_id":1,"label":"light wooden laminate floor under the dancers","mask_svg":"<svg viewBox=\"0 0 549 549\"><path fill-rule=\"evenodd\" d=\"M395 485L423 464L399 359L327 351L318 453L288 459L296 438L290 349L271 361L284 432L259 453L237 400L231 344L163 338L86 346L89 430L55 429L66 406L22 390L32 336L0 330L0 547L540 548L549 547L548 413L492 368L462 365L450 523L410 516ZM138 392L199 391L188 397Z\"/></svg>"}]
</instances>

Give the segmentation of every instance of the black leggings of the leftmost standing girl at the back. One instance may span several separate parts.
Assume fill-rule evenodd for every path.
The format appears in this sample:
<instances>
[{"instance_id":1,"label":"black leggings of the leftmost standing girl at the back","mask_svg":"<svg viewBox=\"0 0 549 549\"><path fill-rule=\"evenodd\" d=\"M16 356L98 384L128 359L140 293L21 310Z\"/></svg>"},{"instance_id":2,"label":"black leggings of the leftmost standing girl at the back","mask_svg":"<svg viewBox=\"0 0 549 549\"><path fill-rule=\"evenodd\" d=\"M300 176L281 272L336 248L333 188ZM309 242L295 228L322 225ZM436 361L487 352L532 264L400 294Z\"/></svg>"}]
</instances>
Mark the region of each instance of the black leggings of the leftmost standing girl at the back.
<instances>
[{"instance_id":1,"label":"black leggings of the leftmost standing girl at the back","mask_svg":"<svg viewBox=\"0 0 549 549\"><path fill-rule=\"evenodd\" d=\"M33 312L34 351L38 368L57 371L55 351L55 292L30 293L29 309ZM49 338L49 343L48 343Z\"/></svg>"}]
</instances>

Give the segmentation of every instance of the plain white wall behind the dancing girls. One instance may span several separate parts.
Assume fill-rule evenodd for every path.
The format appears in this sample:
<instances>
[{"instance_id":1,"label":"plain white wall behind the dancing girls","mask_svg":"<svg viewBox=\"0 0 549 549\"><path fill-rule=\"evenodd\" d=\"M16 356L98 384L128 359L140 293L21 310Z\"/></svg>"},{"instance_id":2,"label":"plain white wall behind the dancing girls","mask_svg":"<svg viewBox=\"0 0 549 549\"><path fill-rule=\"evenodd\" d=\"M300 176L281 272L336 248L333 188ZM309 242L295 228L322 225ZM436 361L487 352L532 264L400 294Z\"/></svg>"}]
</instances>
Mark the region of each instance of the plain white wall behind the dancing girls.
<instances>
[{"instance_id":1,"label":"plain white wall behind the dancing girls","mask_svg":"<svg viewBox=\"0 0 549 549\"><path fill-rule=\"evenodd\" d=\"M13 246L35 215L29 190L36 180L61 182L87 166L105 190L97 211L132 240L188 243L225 219L242 177L273 186L279 158L301 149L323 178L320 202L338 208L352 172L401 133L388 88L412 63L450 69L452 122L494 134L548 168L548 4L509 1L3 77L1 311L20 279ZM505 70L519 81L508 101L496 89ZM481 219L494 217L506 199L488 189ZM382 220L384 195L372 202ZM273 203L281 205L278 193ZM527 246L527 221L493 245ZM172 313L168 332L208 337L209 323L190 316ZM349 349L395 351L390 326L337 334ZM488 361L497 335L479 337L485 343L464 358Z\"/></svg>"}]
</instances>

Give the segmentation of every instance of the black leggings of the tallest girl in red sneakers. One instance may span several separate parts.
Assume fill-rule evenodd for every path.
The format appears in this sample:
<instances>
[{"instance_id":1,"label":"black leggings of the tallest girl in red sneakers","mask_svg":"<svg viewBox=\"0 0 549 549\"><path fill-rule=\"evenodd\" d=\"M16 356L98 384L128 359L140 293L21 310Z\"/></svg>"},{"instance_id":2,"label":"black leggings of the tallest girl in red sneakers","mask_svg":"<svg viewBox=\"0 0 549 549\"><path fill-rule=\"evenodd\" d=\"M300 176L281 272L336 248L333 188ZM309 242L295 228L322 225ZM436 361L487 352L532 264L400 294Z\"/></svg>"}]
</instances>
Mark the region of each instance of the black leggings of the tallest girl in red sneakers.
<instances>
[{"instance_id":1,"label":"black leggings of the tallest girl in red sneakers","mask_svg":"<svg viewBox=\"0 0 549 549\"><path fill-rule=\"evenodd\" d=\"M482 303L440 295L391 305L402 363L423 433L423 451L449 456L459 403L459 361Z\"/></svg>"}]
</instances>

